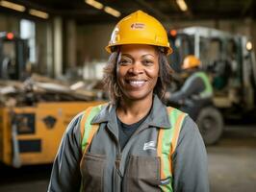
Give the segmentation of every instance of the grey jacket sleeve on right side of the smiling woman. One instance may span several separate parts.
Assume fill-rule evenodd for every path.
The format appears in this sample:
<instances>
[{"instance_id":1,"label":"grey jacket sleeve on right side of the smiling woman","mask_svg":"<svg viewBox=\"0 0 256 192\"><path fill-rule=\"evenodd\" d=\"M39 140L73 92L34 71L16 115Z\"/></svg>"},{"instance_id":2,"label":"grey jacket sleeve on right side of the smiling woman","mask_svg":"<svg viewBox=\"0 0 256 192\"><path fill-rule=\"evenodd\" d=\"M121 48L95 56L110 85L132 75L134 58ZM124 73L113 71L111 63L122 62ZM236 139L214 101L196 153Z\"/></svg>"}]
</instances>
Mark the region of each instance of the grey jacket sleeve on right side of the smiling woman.
<instances>
[{"instance_id":1,"label":"grey jacket sleeve on right side of the smiling woman","mask_svg":"<svg viewBox=\"0 0 256 192\"><path fill-rule=\"evenodd\" d=\"M191 117L184 120L173 159L175 192L208 192L208 163L204 142Z\"/></svg>"}]
</instances>

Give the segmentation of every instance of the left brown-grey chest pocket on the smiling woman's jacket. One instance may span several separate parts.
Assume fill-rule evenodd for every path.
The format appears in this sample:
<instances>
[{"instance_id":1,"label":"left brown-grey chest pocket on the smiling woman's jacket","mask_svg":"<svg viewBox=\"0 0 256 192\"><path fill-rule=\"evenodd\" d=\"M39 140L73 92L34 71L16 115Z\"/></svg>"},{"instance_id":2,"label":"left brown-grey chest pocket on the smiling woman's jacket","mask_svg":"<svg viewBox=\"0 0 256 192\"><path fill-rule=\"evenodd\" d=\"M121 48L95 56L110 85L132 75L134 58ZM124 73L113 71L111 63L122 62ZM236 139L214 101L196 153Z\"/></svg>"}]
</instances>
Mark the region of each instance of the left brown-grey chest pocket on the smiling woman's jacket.
<instances>
[{"instance_id":1,"label":"left brown-grey chest pocket on the smiling woman's jacket","mask_svg":"<svg viewBox=\"0 0 256 192\"><path fill-rule=\"evenodd\" d=\"M82 175L82 186L87 192L103 191L103 176L106 166L106 156L91 153L84 154L80 170Z\"/></svg>"}]
</instances>

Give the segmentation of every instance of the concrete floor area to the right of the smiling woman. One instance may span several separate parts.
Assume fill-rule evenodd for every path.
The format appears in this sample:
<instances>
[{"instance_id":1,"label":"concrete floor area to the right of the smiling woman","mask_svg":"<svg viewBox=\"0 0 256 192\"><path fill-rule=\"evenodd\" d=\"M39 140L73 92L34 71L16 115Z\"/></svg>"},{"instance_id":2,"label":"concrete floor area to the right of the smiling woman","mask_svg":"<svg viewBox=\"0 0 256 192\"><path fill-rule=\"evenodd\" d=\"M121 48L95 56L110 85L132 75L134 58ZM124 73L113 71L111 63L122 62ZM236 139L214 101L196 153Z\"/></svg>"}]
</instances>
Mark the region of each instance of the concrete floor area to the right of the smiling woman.
<instances>
[{"instance_id":1,"label":"concrete floor area to the right of the smiling woman","mask_svg":"<svg viewBox=\"0 0 256 192\"><path fill-rule=\"evenodd\" d=\"M212 192L256 191L256 125L229 127L207 152Z\"/></svg>"}]
</instances>

